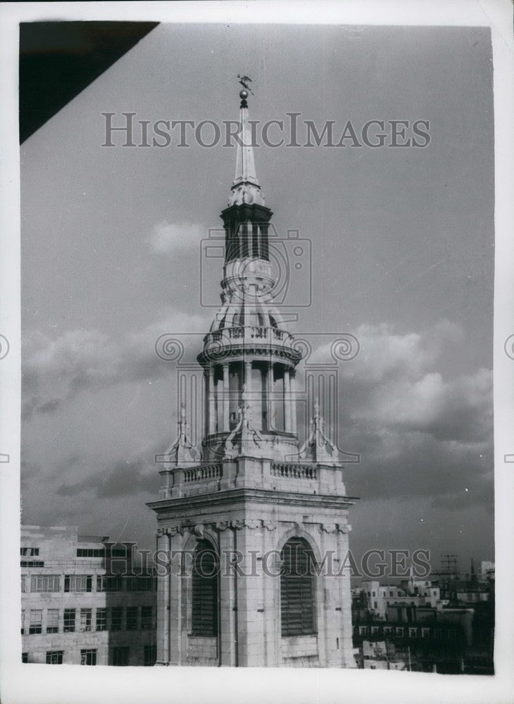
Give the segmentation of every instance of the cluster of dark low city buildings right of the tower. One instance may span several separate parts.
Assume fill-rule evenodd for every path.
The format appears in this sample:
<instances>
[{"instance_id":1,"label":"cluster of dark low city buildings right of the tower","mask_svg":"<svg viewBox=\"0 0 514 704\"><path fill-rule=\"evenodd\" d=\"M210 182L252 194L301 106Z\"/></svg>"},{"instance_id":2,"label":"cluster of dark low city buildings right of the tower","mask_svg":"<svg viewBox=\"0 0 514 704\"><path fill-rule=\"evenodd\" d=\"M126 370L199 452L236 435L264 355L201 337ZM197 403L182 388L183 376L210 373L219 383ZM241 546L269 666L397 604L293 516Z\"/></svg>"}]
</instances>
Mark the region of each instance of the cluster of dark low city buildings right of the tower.
<instances>
[{"instance_id":1,"label":"cluster of dark low city buildings right of the tower","mask_svg":"<svg viewBox=\"0 0 514 704\"><path fill-rule=\"evenodd\" d=\"M353 645L372 670L493 674L494 589L470 579L362 582L353 589Z\"/></svg>"}]
</instances>

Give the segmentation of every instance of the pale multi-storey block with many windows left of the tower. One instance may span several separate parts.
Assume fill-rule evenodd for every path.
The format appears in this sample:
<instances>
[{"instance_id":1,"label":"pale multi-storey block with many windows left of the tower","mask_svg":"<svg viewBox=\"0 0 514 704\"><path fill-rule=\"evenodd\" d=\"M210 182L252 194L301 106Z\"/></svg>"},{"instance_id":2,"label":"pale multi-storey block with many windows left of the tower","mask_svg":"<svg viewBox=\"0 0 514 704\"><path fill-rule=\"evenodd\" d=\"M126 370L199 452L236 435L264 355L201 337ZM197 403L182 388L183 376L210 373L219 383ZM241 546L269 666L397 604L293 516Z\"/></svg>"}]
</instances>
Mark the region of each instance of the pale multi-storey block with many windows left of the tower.
<instances>
[{"instance_id":1,"label":"pale multi-storey block with many windows left of the tower","mask_svg":"<svg viewBox=\"0 0 514 704\"><path fill-rule=\"evenodd\" d=\"M125 544L22 526L20 566L23 662L154 664L155 578L138 574Z\"/></svg>"}]
</instances>

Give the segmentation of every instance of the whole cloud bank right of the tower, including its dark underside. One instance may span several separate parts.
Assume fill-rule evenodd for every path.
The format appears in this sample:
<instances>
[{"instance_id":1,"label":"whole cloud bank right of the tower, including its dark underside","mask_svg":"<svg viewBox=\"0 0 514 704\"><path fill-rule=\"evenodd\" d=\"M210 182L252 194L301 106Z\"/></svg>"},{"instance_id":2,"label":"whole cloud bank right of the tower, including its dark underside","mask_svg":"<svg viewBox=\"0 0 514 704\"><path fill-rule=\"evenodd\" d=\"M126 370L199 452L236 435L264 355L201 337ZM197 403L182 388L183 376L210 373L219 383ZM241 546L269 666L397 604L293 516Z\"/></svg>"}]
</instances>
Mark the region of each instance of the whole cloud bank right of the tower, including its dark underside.
<instances>
[{"instance_id":1,"label":"whole cloud bank right of the tower, including its dark underside","mask_svg":"<svg viewBox=\"0 0 514 704\"><path fill-rule=\"evenodd\" d=\"M346 470L352 491L432 497L446 508L492 501L492 372L439 372L462 331L444 321L423 334L363 325L357 336L361 350L342 365L338 399L339 446L361 455ZM320 348L315 360L326 355Z\"/></svg>"}]
</instances>

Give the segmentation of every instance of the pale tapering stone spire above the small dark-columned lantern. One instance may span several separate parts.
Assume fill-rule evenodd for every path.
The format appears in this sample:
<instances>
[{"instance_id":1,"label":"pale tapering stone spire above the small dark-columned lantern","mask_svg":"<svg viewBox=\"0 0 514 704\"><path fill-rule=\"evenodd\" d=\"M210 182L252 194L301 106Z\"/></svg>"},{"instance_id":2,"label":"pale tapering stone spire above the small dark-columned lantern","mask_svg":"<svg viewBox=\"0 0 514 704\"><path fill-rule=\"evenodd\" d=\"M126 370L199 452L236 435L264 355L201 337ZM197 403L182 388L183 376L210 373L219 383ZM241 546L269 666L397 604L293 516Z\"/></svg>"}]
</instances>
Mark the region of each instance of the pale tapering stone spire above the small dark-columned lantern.
<instances>
[{"instance_id":1,"label":"pale tapering stone spire above the small dark-columned lantern","mask_svg":"<svg viewBox=\"0 0 514 704\"><path fill-rule=\"evenodd\" d=\"M248 91L246 89L239 93L241 106L239 108L239 124L242 131L237 142L236 173L230 198L229 206L242 206L244 203L251 205L256 203L264 205L264 196L261 193L261 184L257 178L255 160L253 158L253 140L251 125L248 114Z\"/></svg>"}]
</instances>

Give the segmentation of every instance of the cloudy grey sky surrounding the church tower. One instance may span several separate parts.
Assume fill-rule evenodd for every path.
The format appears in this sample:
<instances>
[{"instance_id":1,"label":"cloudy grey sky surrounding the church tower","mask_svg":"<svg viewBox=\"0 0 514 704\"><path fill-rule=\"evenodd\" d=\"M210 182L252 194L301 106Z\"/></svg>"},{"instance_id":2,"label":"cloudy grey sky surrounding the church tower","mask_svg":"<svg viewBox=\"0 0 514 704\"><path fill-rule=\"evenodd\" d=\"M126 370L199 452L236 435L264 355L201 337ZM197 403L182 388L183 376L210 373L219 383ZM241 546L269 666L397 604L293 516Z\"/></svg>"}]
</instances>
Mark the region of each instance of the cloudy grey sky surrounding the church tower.
<instances>
[{"instance_id":1,"label":"cloudy grey sky surrounding the church tower","mask_svg":"<svg viewBox=\"0 0 514 704\"><path fill-rule=\"evenodd\" d=\"M175 437L166 332L201 333L200 241L235 148L102 148L101 113L430 120L424 149L256 149L273 222L311 241L292 332L351 332L339 445L352 546L493 558L493 103L488 30L160 25L23 144L24 523L153 546ZM337 130L336 130L337 131ZM116 140L114 140L116 141ZM219 279L218 279L219 280ZM218 291L213 278L212 296ZM198 346L199 335L192 337Z\"/></svg>"}]
</instances>

